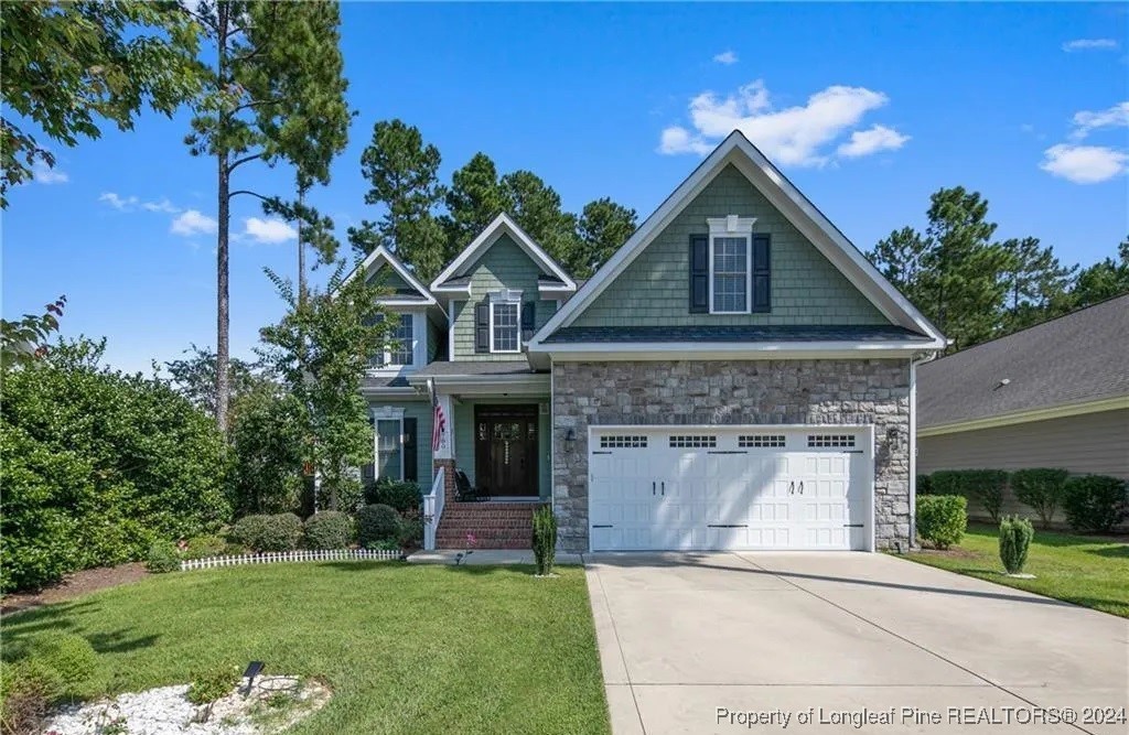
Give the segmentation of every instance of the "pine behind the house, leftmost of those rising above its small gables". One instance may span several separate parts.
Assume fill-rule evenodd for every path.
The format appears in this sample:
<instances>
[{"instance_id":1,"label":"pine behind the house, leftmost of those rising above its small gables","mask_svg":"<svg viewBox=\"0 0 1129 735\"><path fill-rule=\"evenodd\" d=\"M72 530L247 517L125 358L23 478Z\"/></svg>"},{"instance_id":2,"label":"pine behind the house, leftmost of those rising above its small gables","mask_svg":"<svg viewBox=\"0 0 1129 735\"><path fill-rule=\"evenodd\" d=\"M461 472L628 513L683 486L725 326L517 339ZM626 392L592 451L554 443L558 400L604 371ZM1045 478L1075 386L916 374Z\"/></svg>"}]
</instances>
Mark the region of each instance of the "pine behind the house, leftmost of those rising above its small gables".
<instances>
[{"instance_id":1,"label":"pine behind the house, leftmost of those rising above its small gables","mask_svg":"<svg viewBox=\"0 0 1129 735\"><path fill-rule=\"evenodd\" d=\"M423 142L414 125L401 120L373 126L373 140L361 154L361 174L370 189L366 204L386 210L376 222L349 228L349 240L361 256L384 245L430 280L446 262L447 238L435 216L445 187L439 183L439 149Z\"/></svg>"}]
</instances>

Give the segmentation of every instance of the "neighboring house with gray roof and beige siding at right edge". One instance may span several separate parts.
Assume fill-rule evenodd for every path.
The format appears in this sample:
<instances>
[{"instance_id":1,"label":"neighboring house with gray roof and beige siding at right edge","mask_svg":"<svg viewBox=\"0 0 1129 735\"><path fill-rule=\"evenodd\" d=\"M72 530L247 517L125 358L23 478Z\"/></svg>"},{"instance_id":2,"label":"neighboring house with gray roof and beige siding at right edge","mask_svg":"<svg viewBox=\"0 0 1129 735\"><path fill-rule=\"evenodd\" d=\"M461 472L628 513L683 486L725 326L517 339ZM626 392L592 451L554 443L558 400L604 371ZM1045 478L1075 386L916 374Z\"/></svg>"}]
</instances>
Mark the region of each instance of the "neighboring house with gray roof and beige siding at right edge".
<instances>
[{"instance_id":1,"label":"neighboring house with gray roof and beige siding at right edge","mask_svg":"<svg viewBox=\"0 0 1129 735\"><path fill-rule=\"evenodd\" d=\"M918 472L1129 479L1129 294L918 369Z\"/></svg>"}]
</instances>

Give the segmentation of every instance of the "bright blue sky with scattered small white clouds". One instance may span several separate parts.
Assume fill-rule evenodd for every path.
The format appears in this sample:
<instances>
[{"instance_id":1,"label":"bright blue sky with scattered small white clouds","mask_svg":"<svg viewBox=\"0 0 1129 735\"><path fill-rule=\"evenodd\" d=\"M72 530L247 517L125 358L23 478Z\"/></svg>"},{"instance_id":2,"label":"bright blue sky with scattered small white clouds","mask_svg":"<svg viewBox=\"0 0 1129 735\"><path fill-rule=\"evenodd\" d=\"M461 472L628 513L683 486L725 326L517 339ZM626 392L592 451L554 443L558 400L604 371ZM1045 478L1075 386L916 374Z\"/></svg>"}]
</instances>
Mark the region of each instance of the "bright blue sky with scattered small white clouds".
<instances>
[{"instance_id":1,"label":"bright blue sky with scattered small white clouds","mask_svg":"<svg viewBox=\"0 0 1129 735\"><path fill-rule=\"evenodd\" d=\"M359 157L390 117L439 147L445 178L482 150L572 210L606 195L641 219L741 126L864 250L959 184L988 198L999 237L1068 262L1129 231L1120 5L347 3L342 18L359 114L313 198L342 234L379 216ZM10 193L5 316L65 294L63 334L106 335L126 369L215 344L215 166L189 156L186 130L186 114L147 114L56 149L55 172ZM250 168L239 186L291 181ZM296 255L254 201L233 233L233 353L247 356L282 313L262 268L292 274Z\"/></svg>"}]
</instances>

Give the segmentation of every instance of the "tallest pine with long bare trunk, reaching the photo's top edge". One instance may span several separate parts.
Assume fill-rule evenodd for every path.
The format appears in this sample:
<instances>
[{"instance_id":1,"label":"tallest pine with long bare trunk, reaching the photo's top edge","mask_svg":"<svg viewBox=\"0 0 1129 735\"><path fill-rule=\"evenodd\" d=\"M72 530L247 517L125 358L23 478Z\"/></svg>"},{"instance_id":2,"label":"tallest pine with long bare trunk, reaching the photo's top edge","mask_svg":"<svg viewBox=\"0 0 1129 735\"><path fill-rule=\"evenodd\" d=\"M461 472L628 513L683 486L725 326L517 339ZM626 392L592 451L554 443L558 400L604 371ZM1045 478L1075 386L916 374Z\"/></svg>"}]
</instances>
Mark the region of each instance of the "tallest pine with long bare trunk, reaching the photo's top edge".
<instances>
[{"instance_id":1,"label":"tallest pine with long bare trunk, reaching the photo's top edge","mask_svg":"<svg viewBox=\"0 0 1129 735\"><path fill-rule=\"evenodd\" d=\"M305 204L233 190L231 176L246 164L285 160L297 169L299 189L303 182L327 183L330 161L344 148L350 115L335 2L204 0L195 16L215 56L185 142L193 155L217 163L216 422L226 430L231 200L257 196L268 213L300 219L312 239L329 224Z\"/></svg>"}]
</instances>

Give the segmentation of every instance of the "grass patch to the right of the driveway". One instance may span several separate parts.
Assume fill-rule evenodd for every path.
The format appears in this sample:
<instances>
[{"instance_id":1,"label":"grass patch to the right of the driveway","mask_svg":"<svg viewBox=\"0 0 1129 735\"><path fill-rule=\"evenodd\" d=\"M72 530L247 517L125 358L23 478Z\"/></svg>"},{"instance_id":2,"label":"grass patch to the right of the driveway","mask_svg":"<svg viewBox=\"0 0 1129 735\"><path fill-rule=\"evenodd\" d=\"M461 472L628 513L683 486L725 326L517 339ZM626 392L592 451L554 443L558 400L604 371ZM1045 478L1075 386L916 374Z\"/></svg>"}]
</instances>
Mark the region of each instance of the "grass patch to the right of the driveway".
<instances>
[{"instance_id":1,"label":"grass patch to the right of the driveway","mask_svg":"<svg viewBox=\"0 0 1129 735\"><path fill-rule=\"evenodd\" d=\"M1113 539L1076 536L1035 530L1025 572L1034 579L1003 575L999 530L970 525L960 546L948 551L920 551L907 559L979 577L1048 597L1129 618L1129 543Z\"/></svg>"}]
</instances>

